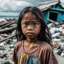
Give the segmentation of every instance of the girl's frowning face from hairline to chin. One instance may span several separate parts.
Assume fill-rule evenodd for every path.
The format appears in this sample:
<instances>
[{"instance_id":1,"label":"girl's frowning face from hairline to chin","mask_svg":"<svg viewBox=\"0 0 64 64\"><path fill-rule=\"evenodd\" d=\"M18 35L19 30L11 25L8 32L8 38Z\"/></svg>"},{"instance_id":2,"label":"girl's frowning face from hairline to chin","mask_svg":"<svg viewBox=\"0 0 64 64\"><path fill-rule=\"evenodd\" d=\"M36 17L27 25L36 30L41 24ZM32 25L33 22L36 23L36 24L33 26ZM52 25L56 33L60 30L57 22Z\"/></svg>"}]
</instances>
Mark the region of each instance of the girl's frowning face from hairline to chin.
<instances>
[{"instance_id":1,"label":"girl's frowning face from hairline to chin","mask_svg":"<svg viewBox=\"0 0 64 64\"><path fill-rule=\"evenodd\" d=\"M40 22L35 14L27 12L21 20L21 29L27 38L35 38L40 32Z\"/></svg>"}]
</instances>

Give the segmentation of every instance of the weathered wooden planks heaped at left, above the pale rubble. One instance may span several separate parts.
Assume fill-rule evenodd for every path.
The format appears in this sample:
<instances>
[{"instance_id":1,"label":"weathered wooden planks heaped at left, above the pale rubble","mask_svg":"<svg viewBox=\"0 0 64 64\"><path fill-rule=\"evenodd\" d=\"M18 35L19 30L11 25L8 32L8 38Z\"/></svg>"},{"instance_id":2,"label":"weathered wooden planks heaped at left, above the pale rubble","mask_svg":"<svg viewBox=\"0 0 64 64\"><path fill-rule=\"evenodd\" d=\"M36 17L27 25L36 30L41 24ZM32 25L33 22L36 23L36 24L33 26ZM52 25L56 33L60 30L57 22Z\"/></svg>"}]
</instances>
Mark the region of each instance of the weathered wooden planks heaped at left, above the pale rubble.
<instances>
[{"instance_id":1,"label":"weathered wooden planks heaped at left, above the pale rubble","mask_svg":"<svg viewBox=\"0 0 64 64\"><path fill-rule=\"evenodd\" d=\"M0 42L15 36L16 23L17 19L5 19L4 21L0 21Z\"/></svg>"}]
</instances>

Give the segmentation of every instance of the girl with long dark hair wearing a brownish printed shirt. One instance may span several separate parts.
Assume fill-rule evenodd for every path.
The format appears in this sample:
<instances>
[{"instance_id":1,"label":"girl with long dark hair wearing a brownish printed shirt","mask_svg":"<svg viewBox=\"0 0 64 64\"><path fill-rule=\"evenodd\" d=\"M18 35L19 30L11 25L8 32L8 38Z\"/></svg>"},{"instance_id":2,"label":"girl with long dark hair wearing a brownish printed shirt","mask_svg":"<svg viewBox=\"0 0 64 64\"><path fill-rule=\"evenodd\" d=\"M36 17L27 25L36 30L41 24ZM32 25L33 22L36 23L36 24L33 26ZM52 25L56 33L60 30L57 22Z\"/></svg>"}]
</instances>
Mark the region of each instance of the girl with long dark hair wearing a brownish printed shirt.
<instances>
[{"instance_id":1,"label":"girl with long dark hair wearing a brownish printed shirt","mask_svg":"<svg viewBox=\"0 0 64 64\"><path fill-rule=\"evenodd\" d=\"M18 18L17 43L12 60L15 64L57 64L51 36L37 7L24 8Z\"/></svg>"}]
</instances>

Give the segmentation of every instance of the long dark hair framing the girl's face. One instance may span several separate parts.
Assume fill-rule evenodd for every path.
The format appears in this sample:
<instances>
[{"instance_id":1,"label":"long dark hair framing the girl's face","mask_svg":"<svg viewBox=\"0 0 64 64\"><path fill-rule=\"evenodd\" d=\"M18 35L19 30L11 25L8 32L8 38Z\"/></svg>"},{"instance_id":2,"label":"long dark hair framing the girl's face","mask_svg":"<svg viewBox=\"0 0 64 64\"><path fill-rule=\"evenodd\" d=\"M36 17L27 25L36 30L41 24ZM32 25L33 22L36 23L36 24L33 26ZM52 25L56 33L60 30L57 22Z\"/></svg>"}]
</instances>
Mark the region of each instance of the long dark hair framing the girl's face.
<instances>
[{"instance_id":1,"label":"long dark hair framing the girl's face","mask_svg":"<svg viewBox=\"0 0 64 64\"><path fill-rule=\"evenodd\" d=\"M37 38L38 40L40 41L45 41L49 44L51 44L51 34L49 32L49 29L47 27L47 24L45 23L44 21L44 16L43 16L43 13L41 12L40 9L38 9L37 7L26 7L24 8L21 12L20 12L20 15L19 15L19 18L18 18L18 23L17 23L17 29L16 29L16 37L17 37L17 41L21 41L21 40L25 40L26 37L25 35L23 34L22 32L22 29L21 29L21 20L23 18L23 15L27 12L32 12L36 15L37 18L40 19L40 23L41 23L41 31L40 33L37 35Z\"/></svg>"}]
</instances>

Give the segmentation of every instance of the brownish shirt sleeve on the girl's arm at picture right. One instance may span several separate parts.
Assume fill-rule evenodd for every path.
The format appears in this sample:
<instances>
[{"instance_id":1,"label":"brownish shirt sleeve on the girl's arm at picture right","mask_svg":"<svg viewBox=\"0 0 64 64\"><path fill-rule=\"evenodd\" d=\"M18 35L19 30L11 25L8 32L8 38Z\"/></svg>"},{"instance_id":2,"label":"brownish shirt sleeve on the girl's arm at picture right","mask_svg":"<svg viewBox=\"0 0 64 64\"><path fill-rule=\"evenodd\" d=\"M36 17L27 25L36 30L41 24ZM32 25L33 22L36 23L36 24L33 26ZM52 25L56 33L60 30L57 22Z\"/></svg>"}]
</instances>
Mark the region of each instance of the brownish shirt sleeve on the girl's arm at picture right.
<instances>
[{"instance_id":1,"label":"brownish shirt sleeve on the girl's arm at picture right","mask_svg":"<svg viewBox=\"0 0 64 64\"><path fill-rule=\"evenodd\" d=\"M42 51L41 64L58 64L58 62L53 54L52 48Z\"/></svg>"}]
</instances>

